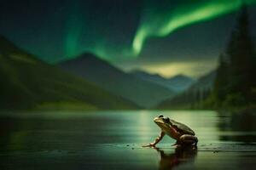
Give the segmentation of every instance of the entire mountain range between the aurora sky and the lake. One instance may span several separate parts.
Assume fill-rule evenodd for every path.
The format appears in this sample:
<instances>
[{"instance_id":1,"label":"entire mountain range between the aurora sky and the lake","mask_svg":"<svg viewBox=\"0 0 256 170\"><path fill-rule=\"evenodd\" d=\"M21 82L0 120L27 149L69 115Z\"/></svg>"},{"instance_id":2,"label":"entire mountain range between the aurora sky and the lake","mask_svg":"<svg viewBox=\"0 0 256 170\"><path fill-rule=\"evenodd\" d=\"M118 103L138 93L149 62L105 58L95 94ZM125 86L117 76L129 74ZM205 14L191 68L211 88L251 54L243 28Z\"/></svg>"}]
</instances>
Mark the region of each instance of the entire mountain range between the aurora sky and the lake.
<instances>
[{"instance_id":1,"label":"entire mountain range between the aurora sky and the lake","mask_svg":"<svg viewBox=\"0 0 256 170\"><path fill-rule=\"evenodd\" d=\"M194 80L120 71L84 53L49 65L0 36L0 108L172 109L212 88L215 71Z\"/></svg>"}]
</instances>

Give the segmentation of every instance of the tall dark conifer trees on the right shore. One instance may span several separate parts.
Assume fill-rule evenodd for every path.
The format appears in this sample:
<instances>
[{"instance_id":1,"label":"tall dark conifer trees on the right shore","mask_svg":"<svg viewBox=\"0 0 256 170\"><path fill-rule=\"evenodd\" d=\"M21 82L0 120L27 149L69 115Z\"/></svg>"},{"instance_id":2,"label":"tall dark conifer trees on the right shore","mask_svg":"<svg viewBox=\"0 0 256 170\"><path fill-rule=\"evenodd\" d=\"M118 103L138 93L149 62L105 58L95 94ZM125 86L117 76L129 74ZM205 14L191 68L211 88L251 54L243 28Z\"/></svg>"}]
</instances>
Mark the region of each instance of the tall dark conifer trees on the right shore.
<instances>
[{"instance_id":1,"label":"tall dark conifer trees on the right shore","mask_svg":"<svg viewBox=\"0 0 256 170\"><path fill-rule=\"evenodd\" d=\"M255 105L256 54L250 35L247 7L243 6L218 69L209 101L214 107Z\"/></svg>"}]
</instances>

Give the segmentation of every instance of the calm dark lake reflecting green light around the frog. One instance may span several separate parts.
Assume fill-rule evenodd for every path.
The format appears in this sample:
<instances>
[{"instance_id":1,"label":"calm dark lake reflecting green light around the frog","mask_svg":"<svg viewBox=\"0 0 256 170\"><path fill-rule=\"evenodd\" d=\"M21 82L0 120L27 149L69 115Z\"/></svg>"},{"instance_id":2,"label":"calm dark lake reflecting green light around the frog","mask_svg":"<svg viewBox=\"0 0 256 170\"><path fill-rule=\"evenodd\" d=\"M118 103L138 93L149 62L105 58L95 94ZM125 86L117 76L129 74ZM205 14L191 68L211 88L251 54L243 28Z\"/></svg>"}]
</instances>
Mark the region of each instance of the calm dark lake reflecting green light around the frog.
<instances>
[{"instance_id":1,"label":"calm dark lake reflecting green light around the frog","mask_svg":"<svg viewBox=\"0 0 256 170\"><path fill-rule=\"evenodd\" d=\"M143 148L154 116L191 127L198 148ZM241 169L256 167L256 116L216 111L2 111L0 169Z\"/></svg>"}]
</instances>

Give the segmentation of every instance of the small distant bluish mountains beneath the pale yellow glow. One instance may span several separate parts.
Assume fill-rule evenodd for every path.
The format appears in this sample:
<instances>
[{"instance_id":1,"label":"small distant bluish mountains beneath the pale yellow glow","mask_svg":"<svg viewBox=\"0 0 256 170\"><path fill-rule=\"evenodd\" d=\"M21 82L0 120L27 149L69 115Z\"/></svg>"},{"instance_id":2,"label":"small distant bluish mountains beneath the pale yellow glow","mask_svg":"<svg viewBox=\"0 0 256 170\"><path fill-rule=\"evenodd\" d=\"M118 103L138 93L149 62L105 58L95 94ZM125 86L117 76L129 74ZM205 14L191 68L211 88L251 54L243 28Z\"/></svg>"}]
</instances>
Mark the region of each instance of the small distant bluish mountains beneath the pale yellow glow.
<instances>
[{"instance_id":1,"label":"small distant bluish mountains beneath the pale yellow glow","mask_svg":"<svg viewBox=\"0 0 256 170\"><path fill-rule=\"evenodd\" d=\"M131 75L133 75L134 77L141 78L148 82L154 82L163 87L169 88L176 93L183 92L195 82L193 78L186 77L184 75L177 75L171 78L164 78L158 74L150 74L145 71L131 71Z\"/></svg>"}]
</instances>

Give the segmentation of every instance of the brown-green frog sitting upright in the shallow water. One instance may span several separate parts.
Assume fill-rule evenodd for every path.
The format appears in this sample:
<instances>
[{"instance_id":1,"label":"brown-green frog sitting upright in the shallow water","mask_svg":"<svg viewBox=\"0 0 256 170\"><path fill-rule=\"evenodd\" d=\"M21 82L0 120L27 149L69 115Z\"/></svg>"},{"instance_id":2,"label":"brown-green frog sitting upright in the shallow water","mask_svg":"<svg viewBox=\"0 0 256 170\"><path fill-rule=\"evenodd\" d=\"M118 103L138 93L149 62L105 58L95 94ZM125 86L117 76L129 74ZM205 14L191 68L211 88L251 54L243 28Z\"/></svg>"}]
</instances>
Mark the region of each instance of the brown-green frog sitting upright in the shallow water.
<instances>
[{"instance_id":1,"label":"brown-green frog sitting upright in the shallow water","mask_svg":"<svg viewBox=\"0 0 256 170\"><path fill-rule=\"evenodd\" d=\"M198 139L195 137L195 132L183 123L176 122L162 115L155 117L154 122L161 128L161 132L159 137L154 142L146 145L146 147L154 147L166 134L172 139L177 140L176 144L172 145L195 145L196 147Z\"/></svg>"}]
</instances>

